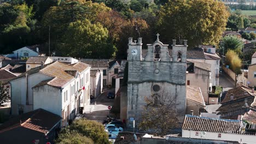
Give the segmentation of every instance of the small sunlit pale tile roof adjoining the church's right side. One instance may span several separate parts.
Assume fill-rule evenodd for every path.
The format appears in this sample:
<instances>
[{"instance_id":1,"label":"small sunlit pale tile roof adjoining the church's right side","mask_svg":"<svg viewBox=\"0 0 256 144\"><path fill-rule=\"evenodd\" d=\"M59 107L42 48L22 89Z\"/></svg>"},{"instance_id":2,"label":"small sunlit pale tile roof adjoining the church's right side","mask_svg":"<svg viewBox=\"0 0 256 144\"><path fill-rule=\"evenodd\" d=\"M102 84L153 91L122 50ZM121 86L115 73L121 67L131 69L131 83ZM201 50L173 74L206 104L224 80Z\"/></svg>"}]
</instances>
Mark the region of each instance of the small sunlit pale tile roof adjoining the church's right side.
<instances>
[{"instance_id":1,"label":"small sunlit pale tile roof adjoining the church's right side","mask_svg":"<svg viewBox=\"0 0 256 144\"><path fill-rule=\"evenodd\" d=\"M205 105L203 97L199 87L196 86L187 86L187 99Z\"/></svg>"}]
</instances>

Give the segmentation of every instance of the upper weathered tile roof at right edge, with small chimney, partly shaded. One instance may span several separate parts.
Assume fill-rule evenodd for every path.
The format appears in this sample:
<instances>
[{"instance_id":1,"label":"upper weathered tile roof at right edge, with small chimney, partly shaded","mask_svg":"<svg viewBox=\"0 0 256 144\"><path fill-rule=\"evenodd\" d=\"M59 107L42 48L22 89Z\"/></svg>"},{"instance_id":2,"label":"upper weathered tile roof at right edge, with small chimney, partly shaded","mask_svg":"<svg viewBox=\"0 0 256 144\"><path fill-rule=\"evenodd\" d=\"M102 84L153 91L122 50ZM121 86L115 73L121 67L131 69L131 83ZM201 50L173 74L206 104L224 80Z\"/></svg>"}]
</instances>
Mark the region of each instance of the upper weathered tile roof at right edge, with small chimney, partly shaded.
<instances>
[{"instance_id":1,"label":"upper weathered tile roof at right edge, with small chimney, partly shaded","mask_svg":"<svg viewBox=\"0 0 256 144\"><path fill-rule=\"evenodd\" d=\"M234 99L233 100L237 100L237 99L245 99L247 97L251 97L252 95L256 95L256 92L251 93L252 89L248 88L246 86L238 86L236 88L232 88L229 89L229 91L226 93L225 98L222 100L222 104L224 103L228 103L231 101L230 99L230 95L233 94L234 95Z\"/></svg>"}]
</instances>

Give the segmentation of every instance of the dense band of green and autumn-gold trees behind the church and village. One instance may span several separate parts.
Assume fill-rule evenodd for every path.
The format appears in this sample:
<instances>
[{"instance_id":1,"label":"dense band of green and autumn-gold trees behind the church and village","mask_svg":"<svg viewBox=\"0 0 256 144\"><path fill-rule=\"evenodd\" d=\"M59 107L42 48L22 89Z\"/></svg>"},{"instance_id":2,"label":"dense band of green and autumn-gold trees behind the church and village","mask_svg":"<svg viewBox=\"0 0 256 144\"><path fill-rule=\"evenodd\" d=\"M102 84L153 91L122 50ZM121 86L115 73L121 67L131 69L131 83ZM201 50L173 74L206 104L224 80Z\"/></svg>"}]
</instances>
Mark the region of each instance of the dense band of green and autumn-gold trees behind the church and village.
<instances>
[{"instance_id":1,"label":"dense band of green and autumn-gold trees behind the church and village","mask_svg":"<svg viewBox=\"0 0 256 144\"><path fill-rule=\"evenodd\" d=\"M224 4L214 0L16 0L0 4L0 53L41 44L41 52L50 47L56 56L126 59L129 37L148 44L160 33L167 44L216 44L227 18Z\"/></svg>"}]
</instances>

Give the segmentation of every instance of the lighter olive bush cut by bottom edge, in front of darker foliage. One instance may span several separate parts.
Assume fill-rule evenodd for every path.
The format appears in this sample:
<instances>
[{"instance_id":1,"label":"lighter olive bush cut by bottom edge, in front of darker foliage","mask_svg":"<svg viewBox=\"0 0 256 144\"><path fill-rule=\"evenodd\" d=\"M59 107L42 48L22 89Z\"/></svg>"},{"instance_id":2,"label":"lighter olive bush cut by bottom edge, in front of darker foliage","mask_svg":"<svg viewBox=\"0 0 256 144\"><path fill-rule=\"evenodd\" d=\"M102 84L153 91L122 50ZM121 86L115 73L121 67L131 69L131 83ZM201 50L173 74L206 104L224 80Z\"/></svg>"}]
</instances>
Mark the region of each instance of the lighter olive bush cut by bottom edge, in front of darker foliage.
<instances>
[{"instance_id":1,"label":"lighter olive bush cut by bottom edge, in front of darker foliage","mask_svg":"<svg viewBox=\"0 0 256 144\"><path fill-rule=\"evenodd\" d=\"M93 144L90 138L79 134L77 131L71 131L64 128L60 131L58 139L55 140L57 144Z\"/></svg>"}]
</instances>

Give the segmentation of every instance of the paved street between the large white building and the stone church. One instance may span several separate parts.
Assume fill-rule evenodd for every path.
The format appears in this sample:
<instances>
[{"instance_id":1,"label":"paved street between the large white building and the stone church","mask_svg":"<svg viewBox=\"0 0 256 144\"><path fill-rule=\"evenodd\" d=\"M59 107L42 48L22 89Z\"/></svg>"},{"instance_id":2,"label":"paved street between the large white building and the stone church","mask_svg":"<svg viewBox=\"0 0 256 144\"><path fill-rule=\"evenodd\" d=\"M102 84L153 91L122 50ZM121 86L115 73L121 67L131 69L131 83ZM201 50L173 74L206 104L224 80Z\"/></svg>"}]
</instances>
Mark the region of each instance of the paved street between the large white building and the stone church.
<instances>
[{"instance_id":1,"label":"paved street between the large white building and the stone church","mask_svg":"<svg viewBox=\"0 0 256 144\"><path fill-rule=\"evenodd\" d=\"M106 89L106 92L102 93L98 96L96 101L96 107L92 110L92 112L85 113L85 118L102 122L109 115L108 106L112 106L114 104L114 99L108 99L107 93L112 91L112 89Z\"/></svg>"}]
</instances>

